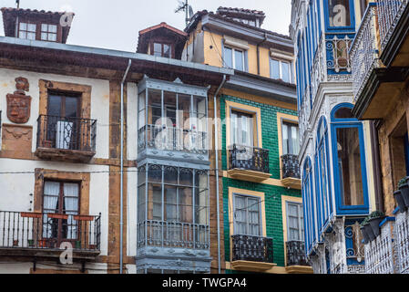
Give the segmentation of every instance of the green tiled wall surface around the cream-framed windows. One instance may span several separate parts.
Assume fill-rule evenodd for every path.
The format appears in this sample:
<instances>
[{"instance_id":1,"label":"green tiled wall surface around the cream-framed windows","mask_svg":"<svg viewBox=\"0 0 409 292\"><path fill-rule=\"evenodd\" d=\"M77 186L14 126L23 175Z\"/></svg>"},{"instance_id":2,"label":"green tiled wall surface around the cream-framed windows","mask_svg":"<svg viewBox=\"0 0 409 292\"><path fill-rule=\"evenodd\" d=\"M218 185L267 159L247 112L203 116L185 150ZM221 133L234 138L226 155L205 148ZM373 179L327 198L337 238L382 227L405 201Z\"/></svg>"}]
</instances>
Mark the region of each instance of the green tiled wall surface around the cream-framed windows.
<instances>
[{"instance_id":1,"label":"green tiled wall surface around the cream-framed windows","mask_svg":"<svg viewBox=\"0 0 409 292\"><path fill-rule=\"evenodd\" d=\"M260 102L239 99L222 95L220 98L220 118L226 117L226 100L257 107L261 109L261 134L262 147L270 151L271 178L280 180L280 154L278 140L277 112L296 116L297 111L274 107ZM226 125L222 125L222 167L227 171L226 151ZM230 224L229 224L229 187L265 193L266 232L273 238L274 263L284 266L284 235L282 233L281 195L301 197L300 190L287 189L264 183L251 183L245 181L223 178L223 210L224 210L224 244L226 260L230 261ZM227 271L230 272L230 271Z\"/></svg>"}]
</instances>

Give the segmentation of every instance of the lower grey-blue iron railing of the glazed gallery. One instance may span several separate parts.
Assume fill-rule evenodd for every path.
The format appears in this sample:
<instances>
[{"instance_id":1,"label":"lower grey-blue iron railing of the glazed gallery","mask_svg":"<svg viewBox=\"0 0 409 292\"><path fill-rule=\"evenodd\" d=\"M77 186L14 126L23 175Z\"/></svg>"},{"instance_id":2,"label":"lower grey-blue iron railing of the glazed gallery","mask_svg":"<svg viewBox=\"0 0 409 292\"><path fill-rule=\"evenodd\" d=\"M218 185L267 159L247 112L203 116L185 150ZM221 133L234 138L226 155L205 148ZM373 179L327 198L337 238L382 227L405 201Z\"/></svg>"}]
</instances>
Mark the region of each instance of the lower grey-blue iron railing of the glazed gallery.
<instances>
[{"instance_id":1,"label":"lower grey-blue iron railing of the glazed gallery","mask_svg":"<svg viewBox=\"0 0 409 292\"><path fill-rule=\"evenodd\" d=\"M138 247L210 248L210 226L148 220L138 223Z\"/></svg>"}]
</instances>

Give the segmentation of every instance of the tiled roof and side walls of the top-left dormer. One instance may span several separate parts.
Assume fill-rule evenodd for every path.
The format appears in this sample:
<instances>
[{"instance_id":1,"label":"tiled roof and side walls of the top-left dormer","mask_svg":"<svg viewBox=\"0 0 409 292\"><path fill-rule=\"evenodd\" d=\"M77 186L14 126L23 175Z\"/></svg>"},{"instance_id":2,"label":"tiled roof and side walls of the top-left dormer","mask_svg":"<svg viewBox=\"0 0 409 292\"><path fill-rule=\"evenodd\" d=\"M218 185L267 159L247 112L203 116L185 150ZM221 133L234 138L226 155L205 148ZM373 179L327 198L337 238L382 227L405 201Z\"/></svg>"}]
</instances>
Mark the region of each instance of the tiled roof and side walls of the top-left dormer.
<instances>
[{"instance_id":1,"label":"tiled roof and side walls of the top-left dormer","mask_svg":"<svg viewBox=\"0 0 409 292\"><path fill-rule=\"evenodd\" d=\"M64 16L66 12L53 12L46 10L31 10L31 9L17 9L17 8L7 8L3 7L0 9L3 14L3 26L5 28L5 36L15 36L15 20L18 16L35 16L35 17L46 17L52 19L53 21L59 23L60 17ZM75 16L74 13L71 13ZM63 26L63 36L62 42L66 43L66 38L68 37L70 26Z\"/></svg>"}]
</instances>

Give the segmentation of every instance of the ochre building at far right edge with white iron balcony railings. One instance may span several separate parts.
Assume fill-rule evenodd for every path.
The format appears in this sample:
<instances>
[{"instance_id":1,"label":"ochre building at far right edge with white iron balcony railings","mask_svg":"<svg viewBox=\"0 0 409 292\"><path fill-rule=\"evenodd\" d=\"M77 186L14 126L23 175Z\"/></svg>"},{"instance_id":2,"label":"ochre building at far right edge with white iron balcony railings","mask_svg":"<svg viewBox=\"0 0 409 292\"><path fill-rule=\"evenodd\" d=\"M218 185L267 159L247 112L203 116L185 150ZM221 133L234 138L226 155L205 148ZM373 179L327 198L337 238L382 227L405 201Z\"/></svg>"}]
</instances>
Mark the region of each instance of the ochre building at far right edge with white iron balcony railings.
<instances>
[{"instance_id":1,"label":"ochre building at far right edge with white iron balcony railings","mask_svg":"<svg viewBox=\"0 0 409 292\"><path fill-rule=\"evenodd\" d=\"M353 114L373 120L381 183L378 218L366 230L366 273L409 273L407 228L408 58L407 1L372 1L351 48Z\"/></svg>"}]
</instances>

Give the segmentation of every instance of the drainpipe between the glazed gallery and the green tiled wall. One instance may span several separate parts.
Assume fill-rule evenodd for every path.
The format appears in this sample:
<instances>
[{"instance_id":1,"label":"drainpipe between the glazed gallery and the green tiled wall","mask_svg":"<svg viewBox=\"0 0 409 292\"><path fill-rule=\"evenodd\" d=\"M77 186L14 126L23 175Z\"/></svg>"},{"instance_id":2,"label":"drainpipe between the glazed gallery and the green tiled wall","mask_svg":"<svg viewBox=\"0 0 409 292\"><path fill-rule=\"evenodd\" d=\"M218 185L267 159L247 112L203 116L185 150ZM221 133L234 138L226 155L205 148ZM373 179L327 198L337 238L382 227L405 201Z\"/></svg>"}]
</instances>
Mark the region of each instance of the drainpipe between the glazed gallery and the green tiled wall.
<instances>
[{"instance_id":1,"label":"drainpipe between the glazed gallery and the green tiled wall","mask_svg":"<svg viewBox=\"0 0 409 292\"><path fill-rule=\"evenodd\" d=\"M213 103L214 103L214 148L215 148L215 153L216 153L216 206L217 206L217 220L218 220L218 268L219 268L219 274L220 274L220 196L219 196L219 135L218 135L218 106L216 103L217 96L219 94L220 89L224 86L224 83L226 83L226 75L223 75L223 80L220 83L219 89L216 90L216 93L214 94L213 98Z\"/></svg>"}]
</instances>

